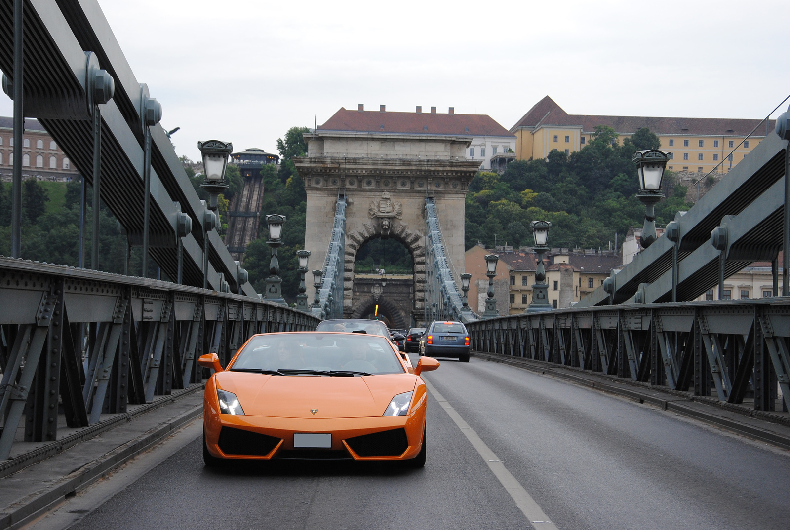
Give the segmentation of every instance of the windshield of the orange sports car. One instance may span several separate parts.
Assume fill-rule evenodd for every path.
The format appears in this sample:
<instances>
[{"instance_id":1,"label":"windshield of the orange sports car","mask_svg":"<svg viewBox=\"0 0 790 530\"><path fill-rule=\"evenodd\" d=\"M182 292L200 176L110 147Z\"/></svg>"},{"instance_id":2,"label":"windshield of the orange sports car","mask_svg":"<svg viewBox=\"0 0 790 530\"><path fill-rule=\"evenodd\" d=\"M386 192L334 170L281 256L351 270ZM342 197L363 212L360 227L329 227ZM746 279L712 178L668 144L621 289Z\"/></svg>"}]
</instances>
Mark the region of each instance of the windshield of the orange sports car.
<instances>
[{"instance_id":1,"label":"windshield of the orange sports car","mask_svg":"<svg viewBox=\"0 0 790 530\"><path fill-rule=\"evenodd\" d=\"M402 374L404 369L381 336L363 333L268 333L254 336L230 370L285 370L284 375L350 371ZM289 370L294 370L288 373Z\"/></svg>"}]
</instances>

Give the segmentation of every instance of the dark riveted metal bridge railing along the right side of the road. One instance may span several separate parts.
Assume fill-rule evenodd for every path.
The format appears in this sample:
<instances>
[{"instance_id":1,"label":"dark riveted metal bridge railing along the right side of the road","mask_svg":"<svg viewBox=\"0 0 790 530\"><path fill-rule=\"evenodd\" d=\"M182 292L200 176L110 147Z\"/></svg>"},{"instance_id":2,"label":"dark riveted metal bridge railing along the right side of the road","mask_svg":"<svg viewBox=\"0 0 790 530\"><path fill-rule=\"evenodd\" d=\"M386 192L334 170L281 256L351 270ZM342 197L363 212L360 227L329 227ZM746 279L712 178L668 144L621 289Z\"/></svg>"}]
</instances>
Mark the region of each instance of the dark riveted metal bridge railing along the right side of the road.
<instances>
[{"instance_id":1,"label":"dark riveted metal bridge railing along the right side of the road","mask_svg":"<svg viewBox=\"0 0 790 530\"><path fill-rule=\"evenodd\" d=\"M472 350L773 411L790 404L790 297L623 304L470 322Z\"/></svg>"}]
</instances>

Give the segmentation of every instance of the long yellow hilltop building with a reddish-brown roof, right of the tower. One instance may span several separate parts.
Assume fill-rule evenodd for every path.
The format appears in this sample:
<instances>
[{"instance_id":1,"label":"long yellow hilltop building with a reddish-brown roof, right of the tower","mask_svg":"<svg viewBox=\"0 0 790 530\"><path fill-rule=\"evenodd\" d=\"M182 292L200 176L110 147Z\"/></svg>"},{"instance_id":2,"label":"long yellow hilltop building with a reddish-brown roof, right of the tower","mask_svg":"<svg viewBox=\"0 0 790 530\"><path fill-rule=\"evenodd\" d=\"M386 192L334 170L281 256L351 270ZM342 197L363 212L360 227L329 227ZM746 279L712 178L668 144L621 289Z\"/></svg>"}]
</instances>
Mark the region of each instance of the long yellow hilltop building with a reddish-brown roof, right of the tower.
<instances>
[{"instance_id":1,"label":"long yellow hilltop building with a reddish-brown roof, right of the tower","mask_svg":"<svg viewBox=\"0 0 790 530\"><path fill-rule=\"evenodd\" d=\"M707 173L714 167L726 173L743 160L773 130L759 119L734 118L651 118L642 116L569 115L549 96L529 109L510 128L516 136L517 160L546 158L554 149L566 155L579 151L590 141L596 126L609 126L617 141L647 127L661 141L661 149L671 153L668 169L677 172ZM747 135L754 130L751 137ZM767 127L767 129L766 129ZM732 153L732 154L731 154Z\"/></svg>"}]
</instances>

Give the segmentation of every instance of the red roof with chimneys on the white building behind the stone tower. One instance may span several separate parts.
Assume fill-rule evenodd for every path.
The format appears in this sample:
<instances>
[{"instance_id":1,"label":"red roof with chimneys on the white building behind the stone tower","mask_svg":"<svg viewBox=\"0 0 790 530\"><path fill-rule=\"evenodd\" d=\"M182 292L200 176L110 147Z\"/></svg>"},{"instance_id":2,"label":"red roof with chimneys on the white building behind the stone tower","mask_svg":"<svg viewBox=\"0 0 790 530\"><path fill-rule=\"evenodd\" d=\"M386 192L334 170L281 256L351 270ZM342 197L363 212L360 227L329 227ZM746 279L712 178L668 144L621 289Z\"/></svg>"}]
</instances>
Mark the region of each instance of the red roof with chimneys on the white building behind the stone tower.
<instances>
[{"instance_id":1,"label":"red roof with chimneys on the white building behind the stone tower","mask_svg":"<svg viewBox=\"0 0 790 530\"><path fill-rule=\"evenodd\" d=\"M318 130L513 137L489 115L348 111L344 107L318 126Z\"/></svg>"}]
</instances>

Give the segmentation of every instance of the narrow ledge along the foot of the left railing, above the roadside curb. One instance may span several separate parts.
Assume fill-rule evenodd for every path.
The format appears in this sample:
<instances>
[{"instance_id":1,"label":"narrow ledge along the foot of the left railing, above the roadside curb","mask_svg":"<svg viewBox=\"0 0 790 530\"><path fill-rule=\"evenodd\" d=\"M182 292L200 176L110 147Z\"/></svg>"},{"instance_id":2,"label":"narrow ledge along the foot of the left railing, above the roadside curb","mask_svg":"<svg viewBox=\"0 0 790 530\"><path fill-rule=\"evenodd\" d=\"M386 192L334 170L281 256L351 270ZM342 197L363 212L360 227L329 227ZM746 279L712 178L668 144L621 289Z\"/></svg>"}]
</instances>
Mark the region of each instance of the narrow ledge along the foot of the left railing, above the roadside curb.
<instances>
[{"instance_id":1,"label":"narrow ledge along the foot of the left railing, above the roadside curb","mask_svg":"<svg viewBox=\"0 0 790 530\"><path fill-rule=\"evenodd\" d=\"M58 453L62 453L66 449L77 445L79 442L84 442L85 440L93 438L94 436L98 436L99 434L102 434L113 427L117 427L120 423L130 422L138 415L145 414L145 412L151 412L156 408L160 408L166 404L172 403L175 400L179 400L182 397L197 392L198 390L202 390L203 388L204 385L202 384L190 385L188 388L179 390L179 392L173 393L170 396L166 396L159 400L153 401L152 403L137 407L132 412L119 414L115 416L115 418L106 419L103 422L96 423L96 425L85 427L83 430L80 430L71 436L67 436L66 438L62 438L57 442L44 445L40 449L26 453L21 457L13 458L12 460L6 460L0 464L0 479L2 479L4 476L16 473L21 469L28 467L28 465L36 464L42 460L47 460L47 458L53 457Z\"/></svg>"}]
</instances>

